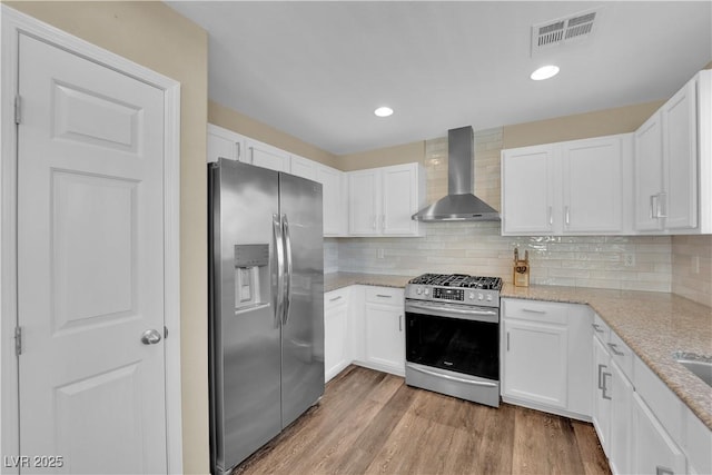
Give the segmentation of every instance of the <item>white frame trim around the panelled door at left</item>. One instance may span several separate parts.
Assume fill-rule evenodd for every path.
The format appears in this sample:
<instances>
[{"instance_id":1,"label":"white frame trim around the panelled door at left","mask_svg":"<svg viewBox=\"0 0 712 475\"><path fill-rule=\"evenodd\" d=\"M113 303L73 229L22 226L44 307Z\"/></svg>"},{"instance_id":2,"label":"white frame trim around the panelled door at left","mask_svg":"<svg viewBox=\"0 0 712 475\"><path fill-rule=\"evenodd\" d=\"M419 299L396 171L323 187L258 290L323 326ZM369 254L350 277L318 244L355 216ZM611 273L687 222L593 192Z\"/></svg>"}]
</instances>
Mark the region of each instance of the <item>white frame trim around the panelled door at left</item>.
<instances>
[{"instance_id":1,"label":"white frame trim around the panelled door at left","mask_svg":"<svg viewBox=\"0 0 712 475\"><path fill-rule=\"evenodd\" d=\"M19 454L18 360L14 353L17 300L17 127L18 38L28 34L149 83L165 93L164 308L166 338L166 436L168 473L182 473L180 386L180 83L118 55L0 4L2 73L0 75L0 453ZM0 465L1 473L19 473Z\"/></svg>"}]
</instances>

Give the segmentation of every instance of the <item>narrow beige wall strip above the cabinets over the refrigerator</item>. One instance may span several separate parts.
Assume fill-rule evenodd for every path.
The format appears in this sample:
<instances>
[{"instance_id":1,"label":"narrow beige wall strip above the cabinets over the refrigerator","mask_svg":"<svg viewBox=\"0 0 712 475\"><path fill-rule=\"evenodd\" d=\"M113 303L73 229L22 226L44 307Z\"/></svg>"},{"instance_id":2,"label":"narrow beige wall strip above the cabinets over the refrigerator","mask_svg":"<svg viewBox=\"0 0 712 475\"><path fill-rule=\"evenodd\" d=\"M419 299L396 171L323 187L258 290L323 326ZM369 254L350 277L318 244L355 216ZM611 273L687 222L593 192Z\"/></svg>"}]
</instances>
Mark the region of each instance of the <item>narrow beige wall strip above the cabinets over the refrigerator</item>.
<instances>
[{"instance_id":1,"label":"narrow beige wall strip above the cabinets over the refrigerator","mask_svg":"<svg viewBox=\"0 0 712 475\"><path fill-rule=\"evenodd\" d=\"M224 107L215 101L208 102L208 121L291 154L320 161L329 167L336 168L338 165L334 154L322 150L289 133L277 130L271 126L251 119L244 113Z\"/></svg>"}]
</instances>

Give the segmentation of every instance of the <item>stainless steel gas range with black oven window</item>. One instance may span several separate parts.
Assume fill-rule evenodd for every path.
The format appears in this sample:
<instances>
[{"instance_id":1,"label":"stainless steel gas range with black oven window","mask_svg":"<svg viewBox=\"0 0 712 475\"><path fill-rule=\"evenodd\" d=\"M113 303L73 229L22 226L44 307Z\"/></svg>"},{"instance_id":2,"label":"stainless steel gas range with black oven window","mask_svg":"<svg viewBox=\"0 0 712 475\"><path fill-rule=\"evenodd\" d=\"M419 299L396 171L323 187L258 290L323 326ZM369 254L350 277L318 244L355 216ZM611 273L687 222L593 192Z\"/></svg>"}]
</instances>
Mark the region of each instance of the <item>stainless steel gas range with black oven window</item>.
<instances>
[{"instance_id":1,"label":"stainless steel gas range with black oven window","mask_svg":"<svg viewBox=\"0 0 712 475\"><path fill-rule=\"evenodd\" d=\"M405 382L500 406L500 277L424 274L405 288Z\"/></svg>"}]
</instances>

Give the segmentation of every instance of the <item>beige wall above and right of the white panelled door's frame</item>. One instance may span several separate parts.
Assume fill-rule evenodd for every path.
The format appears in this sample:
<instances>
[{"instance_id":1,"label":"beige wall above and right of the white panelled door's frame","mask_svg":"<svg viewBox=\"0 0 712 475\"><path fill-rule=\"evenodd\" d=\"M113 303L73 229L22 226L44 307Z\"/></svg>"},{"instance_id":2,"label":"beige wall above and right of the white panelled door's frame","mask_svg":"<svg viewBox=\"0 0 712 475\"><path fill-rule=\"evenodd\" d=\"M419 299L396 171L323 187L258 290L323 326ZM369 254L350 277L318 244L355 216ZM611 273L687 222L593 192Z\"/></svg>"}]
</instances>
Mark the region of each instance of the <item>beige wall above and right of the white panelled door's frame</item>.
<instances>
[{"instance_id":1,"label":"beige wall above and right of the white panelled door's frame","mask_svg":"<svg viewBox=\"0 0 712 475\"><path fill-rule=\"evenodd\" d=\"M184 471L209 472L207 33L161 2L6 2L181 83L180 307Z\"/></svg>"}]
</instances>

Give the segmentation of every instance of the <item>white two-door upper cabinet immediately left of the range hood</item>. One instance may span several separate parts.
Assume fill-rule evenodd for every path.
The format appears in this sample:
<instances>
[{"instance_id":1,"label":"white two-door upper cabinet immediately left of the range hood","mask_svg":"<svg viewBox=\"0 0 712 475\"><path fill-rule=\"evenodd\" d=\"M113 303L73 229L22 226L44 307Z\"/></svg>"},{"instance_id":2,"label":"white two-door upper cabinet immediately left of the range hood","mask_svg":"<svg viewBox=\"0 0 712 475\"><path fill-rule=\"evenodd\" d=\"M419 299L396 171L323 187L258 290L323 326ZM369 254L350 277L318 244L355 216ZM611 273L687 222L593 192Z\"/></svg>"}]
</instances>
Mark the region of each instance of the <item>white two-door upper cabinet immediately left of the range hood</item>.
<instances>
[{"instance_id":1,"label":"white two-door upper cabinet immediately left of the range hood","mask_svg":"<svg viewBox=\"0 0 712 475\"><path fill-rule=\"evenodd\" d=\"M348 172L348 231L354 236L421 236L411 219L425 204L419 164Z\"/></svg>"}]
</instances>

